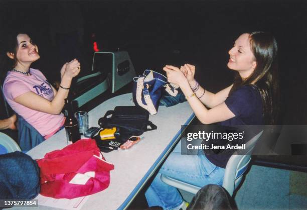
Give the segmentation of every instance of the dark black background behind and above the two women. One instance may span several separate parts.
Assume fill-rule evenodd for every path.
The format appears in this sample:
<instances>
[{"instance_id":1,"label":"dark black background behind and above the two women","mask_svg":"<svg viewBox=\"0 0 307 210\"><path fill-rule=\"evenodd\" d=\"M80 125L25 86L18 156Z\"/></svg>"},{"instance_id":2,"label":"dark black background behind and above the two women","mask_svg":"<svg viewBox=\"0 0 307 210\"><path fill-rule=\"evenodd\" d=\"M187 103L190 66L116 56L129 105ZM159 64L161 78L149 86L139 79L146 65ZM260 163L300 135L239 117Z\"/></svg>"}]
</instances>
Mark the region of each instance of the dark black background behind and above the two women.
<instances>
[{"instance_id":1,"label":"dark black background behind and above the two women","mask_svg":"<svg viewBox=\"0 0 307 210\"><path fill-rule=\"evenodd\" d=\"M218 91L233 80L228 50L243 32L269 31L279 45L283 124L306 124L305 1L61 1L79 7L83 19L82 74L91 69L93 42L102 51L128 51L135 70L162 71L165 64L197 66L196 77ZM55 8L51 10L50 7ZM17 28L31 32L41 59L33 64L50 81L64 64L50 37L59 1L2 1L0 38ZM94 35L94 36L93 36ZM1 47L1 46L0 46ZM69 53L69 52L68 52ZM6 69L2 69L6 70Z\"/></svg>"}]
</instances>

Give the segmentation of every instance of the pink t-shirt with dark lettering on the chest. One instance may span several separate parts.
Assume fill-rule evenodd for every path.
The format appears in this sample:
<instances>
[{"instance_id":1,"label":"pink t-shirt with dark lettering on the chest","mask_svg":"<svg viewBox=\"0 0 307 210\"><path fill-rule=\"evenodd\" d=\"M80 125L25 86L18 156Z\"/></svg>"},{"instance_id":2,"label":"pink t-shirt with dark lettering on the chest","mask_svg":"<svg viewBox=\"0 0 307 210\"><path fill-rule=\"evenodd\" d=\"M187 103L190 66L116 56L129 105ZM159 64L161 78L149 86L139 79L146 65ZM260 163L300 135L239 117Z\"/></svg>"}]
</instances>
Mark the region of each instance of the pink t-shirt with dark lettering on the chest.
<instances>
[{"instance_id":1,"label":"pink t-shirt with dark lettering on the chest","mask_svg":"<svg viewBox=\"0 0 307 210\"><path fill-rule=\"evenodd\" d=\"M54 98L54 92L46 77L37 69L30 68L31 75L9 71L4 82L4 95L12 109L30 123L42 136L46 136L59 128L64 115L52 115L32 110L14 101L14 98L32 91L47 100Z\"/></svg>"}]
</instances>

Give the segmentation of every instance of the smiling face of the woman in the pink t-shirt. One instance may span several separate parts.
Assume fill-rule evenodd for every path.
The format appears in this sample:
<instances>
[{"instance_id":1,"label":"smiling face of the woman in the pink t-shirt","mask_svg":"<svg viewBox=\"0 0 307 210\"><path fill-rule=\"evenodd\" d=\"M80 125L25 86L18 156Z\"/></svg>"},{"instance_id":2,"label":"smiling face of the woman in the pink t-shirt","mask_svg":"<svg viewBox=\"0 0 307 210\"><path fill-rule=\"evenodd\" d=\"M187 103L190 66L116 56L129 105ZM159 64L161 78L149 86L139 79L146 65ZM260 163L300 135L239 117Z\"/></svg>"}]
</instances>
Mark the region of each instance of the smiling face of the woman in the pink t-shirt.
<instances>
[{"instance_id":1,"label":"smiling face of the woman in the pink t-shirt","mask_svg":"<svg viewBox=\"0 0 307 210\"><path fill-rule=\"evenodd\" d=\"M15 67L17 69L22 68L21 66L30 66L31 63L40 58L37 45L33 44L27 34L19 34L17 36L16 55L8 53L8 56L11 59L16 59Z\"/></svg>"}]
</instances>

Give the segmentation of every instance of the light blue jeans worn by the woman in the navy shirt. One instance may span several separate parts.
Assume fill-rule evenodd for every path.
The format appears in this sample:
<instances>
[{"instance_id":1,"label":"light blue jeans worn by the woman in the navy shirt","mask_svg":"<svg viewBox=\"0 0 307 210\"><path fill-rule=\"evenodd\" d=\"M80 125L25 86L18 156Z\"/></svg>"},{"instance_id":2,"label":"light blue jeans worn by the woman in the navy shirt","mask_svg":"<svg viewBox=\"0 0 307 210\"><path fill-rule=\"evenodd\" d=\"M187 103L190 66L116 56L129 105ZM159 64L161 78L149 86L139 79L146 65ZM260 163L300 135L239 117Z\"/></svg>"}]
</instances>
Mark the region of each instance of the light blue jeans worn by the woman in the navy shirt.
<instances>
[{"instance_id":1,"label":"light blue jeans worn by the woman in the navy shirt","mask_svg":"<svg viewBox=\"0 0 307 210\"><path fill-rule=\"evenodd\" d=\"M178 189L164 183L161 174L202 187L207 184L222 185L224 173L225 169L211 163L202 150L198 155L182 155L179 142L146 190L147 203L149 207L172 209L183 202Z\"/></svg>"}]
</instances>

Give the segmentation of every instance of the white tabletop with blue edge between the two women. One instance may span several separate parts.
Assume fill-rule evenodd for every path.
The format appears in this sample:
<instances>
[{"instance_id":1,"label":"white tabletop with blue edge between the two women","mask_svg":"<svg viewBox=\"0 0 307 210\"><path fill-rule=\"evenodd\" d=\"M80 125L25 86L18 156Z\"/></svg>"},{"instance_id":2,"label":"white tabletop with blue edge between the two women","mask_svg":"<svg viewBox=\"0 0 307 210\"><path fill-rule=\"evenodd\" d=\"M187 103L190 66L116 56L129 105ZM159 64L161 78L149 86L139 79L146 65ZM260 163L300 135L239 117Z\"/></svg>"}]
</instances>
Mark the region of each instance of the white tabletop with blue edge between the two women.
<instances>
[{"instance_id":1,"label":"white tabletop with blue edge between the two women","mask_svg":"<svg viewBox=\"0 0 307 210\"><path fill-rule=\"evenodd\" d=\"M132 94L127 93L104 101L89 112L89 126L97 127L98 119L116 106L134 106L131 98ZM107 189L90 195L82 209L124 209L129 205L178 142L181 126L188 125L193 118L194 114L188 102L169 108L159 107L158 114L149 117L149 120L157 125L157 130L145 132L142 135L144 139L127 151L103 153L105 159L115 167L110 171L110 185ZM40 159L47 152L65 146L67 142L63 129L28 154L33 159ZM40 205L39 209L51 208Z\"/></svg>"}]
</instances>

